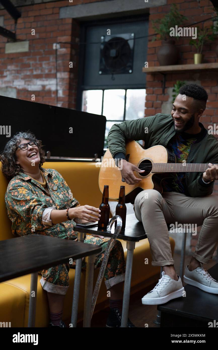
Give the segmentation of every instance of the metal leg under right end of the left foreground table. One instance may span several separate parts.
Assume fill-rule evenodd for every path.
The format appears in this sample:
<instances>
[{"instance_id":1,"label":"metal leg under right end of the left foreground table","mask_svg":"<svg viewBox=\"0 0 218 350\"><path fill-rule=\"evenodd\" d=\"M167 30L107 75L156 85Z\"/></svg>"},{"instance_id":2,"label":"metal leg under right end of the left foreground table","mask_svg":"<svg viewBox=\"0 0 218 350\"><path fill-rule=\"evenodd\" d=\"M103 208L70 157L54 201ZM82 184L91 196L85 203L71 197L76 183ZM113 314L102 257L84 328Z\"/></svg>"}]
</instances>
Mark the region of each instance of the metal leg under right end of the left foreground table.
<instances>
[{"instance_id":1,"label":"metal leg under right end of the left foreground table","mask_svg":"<svg viewBox=\"0 0 218 350\"><path fill-rule=\"evenodd\" d=\"M94 262L96 255L90 255L85 258L86 276L85 276L85 301L83 314L83 327L91 327L91 306L92 306L92 289L93 289L93 274Z\"/></svg>"}]
</instances>

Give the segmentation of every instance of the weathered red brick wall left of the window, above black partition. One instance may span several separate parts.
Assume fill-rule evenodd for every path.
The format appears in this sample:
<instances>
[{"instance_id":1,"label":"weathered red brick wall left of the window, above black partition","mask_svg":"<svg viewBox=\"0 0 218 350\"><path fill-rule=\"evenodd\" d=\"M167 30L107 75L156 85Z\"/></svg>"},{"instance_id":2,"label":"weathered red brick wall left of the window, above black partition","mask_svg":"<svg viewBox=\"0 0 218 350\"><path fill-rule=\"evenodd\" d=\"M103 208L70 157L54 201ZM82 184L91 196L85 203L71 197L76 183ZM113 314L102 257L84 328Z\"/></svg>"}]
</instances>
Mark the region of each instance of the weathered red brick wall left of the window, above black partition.
<instances>
[{"instance_id":1,"label":"weathered red brick wall left of the window, above black partition","mask_svg":"<svg viewBox=\"0 0 218 350\"><path fill-rule=\"evenodd\" d=\"M86 1L84 1L86 2ZM18 7L21 18L17 21L18 40L29 40L29 51L5 54L7 38L0 36L0 87L15 87L17 98L56 105L56 63L53 43L61 44L57 50L58 106L76 108L77 57L79 25L72 19L59 19L59 8L73 6L82 1L56 1ZM6 10L4 27L14 31L14 20ZM35 35L31 35L35 29ZM73 68L69 68L73 62Z\"/></svg>"}]
</instances>

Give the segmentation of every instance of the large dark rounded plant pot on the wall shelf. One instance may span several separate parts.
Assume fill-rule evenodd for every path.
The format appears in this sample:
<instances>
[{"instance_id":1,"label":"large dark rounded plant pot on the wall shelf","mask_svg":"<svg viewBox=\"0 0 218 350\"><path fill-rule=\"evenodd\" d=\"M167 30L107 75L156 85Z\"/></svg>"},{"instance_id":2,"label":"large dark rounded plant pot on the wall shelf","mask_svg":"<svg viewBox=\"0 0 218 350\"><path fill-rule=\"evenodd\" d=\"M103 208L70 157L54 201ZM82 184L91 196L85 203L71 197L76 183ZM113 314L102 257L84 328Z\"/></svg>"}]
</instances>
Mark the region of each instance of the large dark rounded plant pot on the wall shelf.
<instances>
[{"instance_id":1,"label":"large dark rounded plant pot on the wall shelf","mask_svg":"<svg viewBox=\"0 0 218 350\"><path fill-rule=\"evenodd\" d=\"M157 60L160 65L177 64L179 58L179 51L175 46L175 40L163 40L162 46L157 52Z\"/></svg>"}]
</instances>

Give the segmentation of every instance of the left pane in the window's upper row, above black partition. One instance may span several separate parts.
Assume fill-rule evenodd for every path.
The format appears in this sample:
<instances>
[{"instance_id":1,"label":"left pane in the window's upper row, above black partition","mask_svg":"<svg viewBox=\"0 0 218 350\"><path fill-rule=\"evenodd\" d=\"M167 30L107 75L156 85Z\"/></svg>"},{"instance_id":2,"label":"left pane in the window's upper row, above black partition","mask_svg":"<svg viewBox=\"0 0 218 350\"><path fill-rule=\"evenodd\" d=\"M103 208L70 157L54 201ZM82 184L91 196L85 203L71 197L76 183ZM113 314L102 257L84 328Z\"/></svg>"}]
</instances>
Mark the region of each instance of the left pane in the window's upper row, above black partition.
<instances>
[{"instance_id":1,"label":"left pane in the window's upper row, above black partition","mask_svg":"<svg viewBox=\"0 0 218 350\"><path fill-rule=\"evenodd\" d=\"M103 90L84 90L82 112L101 114Z\"/></svg>"}]
</instances>

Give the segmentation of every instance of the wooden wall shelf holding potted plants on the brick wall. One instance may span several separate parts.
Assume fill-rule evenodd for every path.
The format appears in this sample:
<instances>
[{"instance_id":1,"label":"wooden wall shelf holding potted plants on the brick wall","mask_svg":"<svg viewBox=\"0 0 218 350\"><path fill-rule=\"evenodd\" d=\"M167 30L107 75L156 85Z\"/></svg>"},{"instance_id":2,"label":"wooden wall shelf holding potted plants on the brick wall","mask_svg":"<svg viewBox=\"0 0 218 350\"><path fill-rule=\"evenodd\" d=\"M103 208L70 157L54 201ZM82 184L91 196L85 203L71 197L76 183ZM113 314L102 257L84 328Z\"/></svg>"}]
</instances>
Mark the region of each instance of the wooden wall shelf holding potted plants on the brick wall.
<instances>
[{"instance_id":1,"label":"wooden wall shelf holding potted plants on the brick wall","mask_svg":"<svg viewBox=\"0 0 218 350\"><path fill-rule=\"evenodd\" d=\"M142 68L143 73L174 73L181 71L201 71L201 70L216 70L218 71L218 62L215 63L199 63L199 64L175 64L169 66L155 66Z\"/></svg>"}]
</instances>

